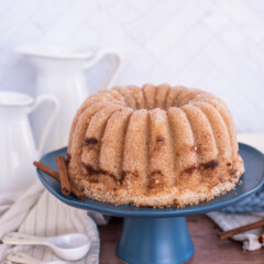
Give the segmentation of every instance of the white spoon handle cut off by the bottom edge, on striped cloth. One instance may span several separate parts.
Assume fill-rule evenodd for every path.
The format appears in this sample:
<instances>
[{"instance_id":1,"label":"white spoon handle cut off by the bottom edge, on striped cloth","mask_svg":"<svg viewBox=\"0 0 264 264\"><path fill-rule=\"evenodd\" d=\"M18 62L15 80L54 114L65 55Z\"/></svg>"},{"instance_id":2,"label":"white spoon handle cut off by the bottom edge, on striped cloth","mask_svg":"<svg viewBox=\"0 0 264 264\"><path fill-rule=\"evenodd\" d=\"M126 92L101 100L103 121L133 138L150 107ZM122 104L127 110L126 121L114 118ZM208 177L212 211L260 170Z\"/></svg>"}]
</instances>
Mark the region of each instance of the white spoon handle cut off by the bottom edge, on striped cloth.
<instances>
[{"instance_id":1,"label":"white spoon handle cut off by the bottom edge, on striped cloth","mask_svg":"<svg viewBox=\"0 0 264 264\"><path fill-rule=\"evenodd\" d=\"M15 262L15 263L23 263L23 264L65 264L65 262L63 261L43 262L28 255L24 252L10 253L9 255L7 255L7 260L10 261L9 263Z\"/></svg>"}]
</instances>

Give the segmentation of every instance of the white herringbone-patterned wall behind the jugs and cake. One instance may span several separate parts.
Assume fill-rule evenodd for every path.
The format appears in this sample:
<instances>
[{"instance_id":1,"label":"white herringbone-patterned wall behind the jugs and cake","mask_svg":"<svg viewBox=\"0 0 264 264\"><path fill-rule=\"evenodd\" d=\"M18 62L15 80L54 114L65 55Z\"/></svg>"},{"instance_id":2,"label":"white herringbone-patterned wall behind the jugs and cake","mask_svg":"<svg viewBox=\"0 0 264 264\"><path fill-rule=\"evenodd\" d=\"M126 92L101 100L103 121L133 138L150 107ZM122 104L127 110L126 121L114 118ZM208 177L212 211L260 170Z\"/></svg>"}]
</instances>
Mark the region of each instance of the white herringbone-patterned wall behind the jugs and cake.
<instances>
[{"instance_id":1,"label":"white herringbone-patterned wall behind the jugs and cake","mask_svg":"<svg viewBox=\"0 0 264 264\"><path fill-rule=\"evenodd\" d=\"M0 0L0 89L34 95L34 70L12 52L26 43L116 47L117 85L206 89L229 105L239 132L264 131L263 0ZM109 66L89 72L92 91Z\"/></svg>"}]
</instances>

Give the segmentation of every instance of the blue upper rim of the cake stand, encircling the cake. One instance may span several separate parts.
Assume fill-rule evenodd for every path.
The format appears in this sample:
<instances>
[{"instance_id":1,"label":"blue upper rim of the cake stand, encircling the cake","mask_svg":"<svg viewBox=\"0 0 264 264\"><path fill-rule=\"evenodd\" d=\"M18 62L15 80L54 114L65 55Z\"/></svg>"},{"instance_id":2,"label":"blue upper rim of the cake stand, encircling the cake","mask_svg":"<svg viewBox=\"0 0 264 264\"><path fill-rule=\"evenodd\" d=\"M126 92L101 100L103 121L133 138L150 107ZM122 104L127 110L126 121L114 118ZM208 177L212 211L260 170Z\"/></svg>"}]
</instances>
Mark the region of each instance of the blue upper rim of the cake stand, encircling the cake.
<instances>
[{"instance_id":1,"label":"blue upper rim of the cake stand, encircling the cake","mask_svg":"<svg viewBox=\"0 0 264 264\"><path fill-rule=\"evenodd\" d=\"M239 143L239 145L240 145L241 153L246 152L248 154L251 153L251 155L258 155L262 160L262 172L260 172L260 174L262 174L262 175L260 175L257 184L254 186L254 188L252 188L252 189L250 189L250 190L248 190L248 191L245 191L241 195L234 196L232 199L224 200L224 201L219 201L219 202L213 202L216 200L218 201L218 198L226 197L231 191L234 191L234 194L235 194L235 189L231 190L231 191L229 191L224 195L221 195L221 196L219 196L219 197L217 197L217 198L215 198L210 201L200 202L200 204L197 205L197 208L194 208L196 206L186 206L186 207L183 207L183 208L176 208L176 207L165 207L165 208L140 207L140 208L136 208L136 207L133 207L133 206L114 206L114 205L109 204L109 202L96 201L96 200L92 200L90 198L86 198L85 200L79 200L79 199L75 198L73 195L69 195L69 196L63 195L62 191L58 188L55 189L54 186L58 187L59 184L55 179L53 179L52 177L47 176L46 174L44 174L40 169L36 169L36 173L37 173L37 176L38 176L40 180L44 185L44 187L50 193L52 193L56 198L58 198L61 201L67 204L68 206L73 206L73 207L80 208L80 209L84 209L84 210L97 211L97 212L101 212L103 215L116 216L116 217L124 217L124 218L128 218L128 217L129 218L186 217L186 216L200 215L200 213L218 210L218 209L221 209L221 208L227 207L227 206L231 206L231 205L244 199L245 197L250 196L251 194L257 191L264 185L264 165L263 165L264 155L263 155L263 153L260 152L258 150L254 148L253 146L244 144L244 143ZM44 164L46 164L45 163L46 158L51 158L51 156L56 156L56 153L59 153L61 155L66 154L66 150L67 150L67 147L63 147L63 148L50 152L50 153L45 154L41 158L41 161ZM46 164L46 165L50 166L50 164ZM245 165L246 165L246 162L245 162ZM245 169L246 169L246 167L245 167ZM246 179L250 180L250 174L248 175L246 172L245 172L245 174L243 176L248 176L249 178L246 177ZM46 179L48 179L48 182ZM243 185L243 183L242 183L242 185ZM200 207L201 205L204 207ZM128 210L128 208L130 208L131 210ZM122 209L125 209L125 210L122 210Z\"/></svg>"}]
</instances>

